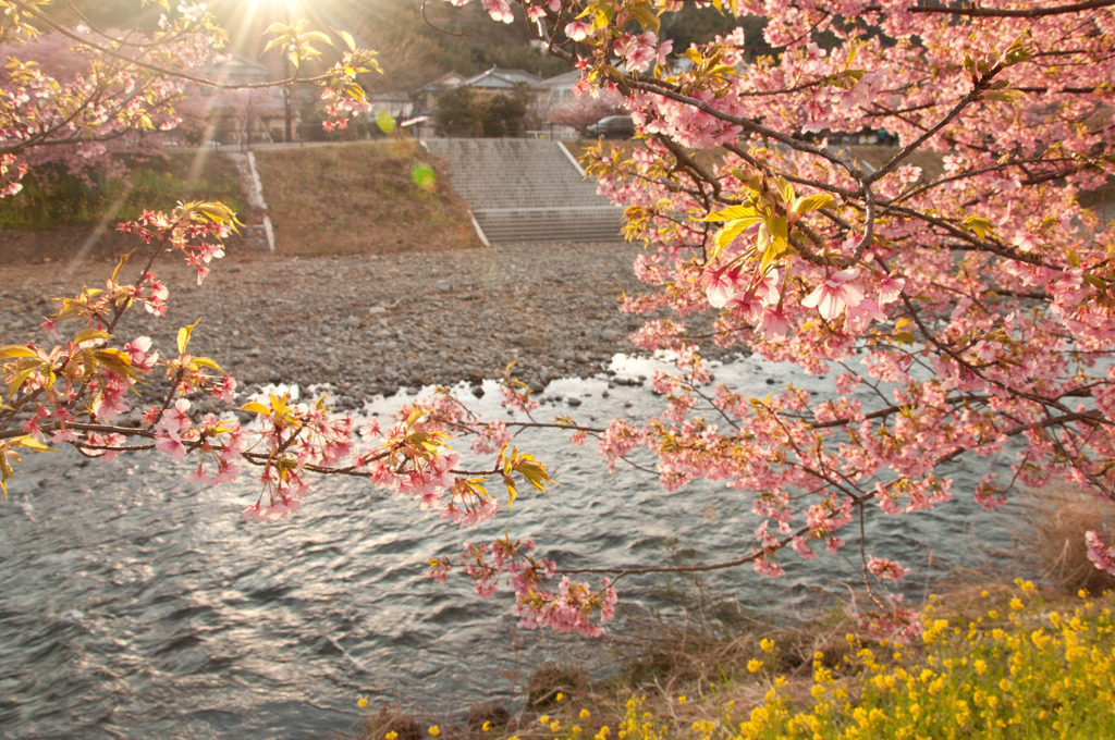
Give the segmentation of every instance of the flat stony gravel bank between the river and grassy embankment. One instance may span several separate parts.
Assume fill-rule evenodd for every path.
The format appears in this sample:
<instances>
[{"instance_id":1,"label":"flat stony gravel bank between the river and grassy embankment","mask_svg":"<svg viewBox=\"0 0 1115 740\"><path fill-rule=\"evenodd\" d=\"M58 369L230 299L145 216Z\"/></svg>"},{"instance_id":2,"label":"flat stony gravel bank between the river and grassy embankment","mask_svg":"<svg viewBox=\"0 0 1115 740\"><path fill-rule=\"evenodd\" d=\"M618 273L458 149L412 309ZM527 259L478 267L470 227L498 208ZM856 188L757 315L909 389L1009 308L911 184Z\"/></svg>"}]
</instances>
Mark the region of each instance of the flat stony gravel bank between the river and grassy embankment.
<instances>
[{"instance_id":1,"label":"flat stony gravel bank between the river and grassy embankment","mask_svg":"<svg viewBox=\"0 0 1115 740\"><path fill-rule=\"evenodd\" d=\"M563 376L591 376L642 317L619 311L641 285L626 244L512 245L455 252L339 257L245 254L214 265L202 286L169 257L156 271L169 311L127 317L117 333L148 334L174 353L178 327L202 319L191 340L242 387L329 383L337 403L430 383L479 381L515 362L536 390ZM138 270L129 264L126 269ZM0 343L36 335L45 296L100 286L103 261L0 267ZM42 341L41 334L38 334Z\"/></svg>"}]
</instances>

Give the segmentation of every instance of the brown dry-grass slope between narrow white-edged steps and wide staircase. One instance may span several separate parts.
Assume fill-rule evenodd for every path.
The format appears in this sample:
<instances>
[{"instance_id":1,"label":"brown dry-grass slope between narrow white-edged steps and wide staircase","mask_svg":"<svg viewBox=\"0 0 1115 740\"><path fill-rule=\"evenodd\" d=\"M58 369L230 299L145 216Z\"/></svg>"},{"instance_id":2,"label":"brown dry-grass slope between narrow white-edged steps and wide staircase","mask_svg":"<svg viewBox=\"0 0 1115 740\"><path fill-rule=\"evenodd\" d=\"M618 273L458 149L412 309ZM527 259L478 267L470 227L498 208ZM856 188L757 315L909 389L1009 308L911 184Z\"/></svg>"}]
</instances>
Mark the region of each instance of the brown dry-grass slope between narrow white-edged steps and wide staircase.
<instances>
[{"instance_id":1,"label":"brown dry-grass slope between narrow white-edged steps and wide staircase","mask_svg":"<svg viewBox=\"0 0 1115 740\"><path fill-rule=\"evenodd\" d=\"M256 163L282 255L479 247L444 163L410 139L272 149ZM435 173L420 187L415 165Z\"/></svg>"}]
</instances>

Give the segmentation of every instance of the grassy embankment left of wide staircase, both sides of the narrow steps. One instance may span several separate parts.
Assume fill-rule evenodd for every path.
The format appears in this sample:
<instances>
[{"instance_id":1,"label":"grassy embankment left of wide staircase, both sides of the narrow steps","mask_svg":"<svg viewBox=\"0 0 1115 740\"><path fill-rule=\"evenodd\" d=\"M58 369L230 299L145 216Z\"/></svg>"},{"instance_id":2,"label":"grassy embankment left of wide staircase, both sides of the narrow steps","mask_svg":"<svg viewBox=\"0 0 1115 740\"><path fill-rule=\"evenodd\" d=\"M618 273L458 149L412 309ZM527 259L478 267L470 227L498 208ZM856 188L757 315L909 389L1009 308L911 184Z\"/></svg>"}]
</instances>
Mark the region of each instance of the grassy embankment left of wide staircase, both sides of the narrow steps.
<instances>
[{"instance_id":1,"label":"grassy embankment left of wide staircase, both sides of the narrow steps","mask_svg":"<svg viewBox=\"0 0 1115 740\"><path fill-rule=\"evenodd\" d=\"M444 165L409 140L358 143L256 153L264 197L285 255L381 254L478 247L468 207L449 188ZM434 173L419 187L415 165ZM245 211L235 168L212 152L175 153L136 168L129 185L109 182L90 189L64 184L62 197L39 191L0 203L0 262L39 262L85 256L115 260L135 244L113 233L140 210L168 211L178 201L221 201ZM119 210L115 211L119 203ZM115 211L115 213L114 213ZM101 222L106 233L84 251ZM252 217L250 223L258 223ZM229 242L240 252L239 237Z\"/></svg>"}]
</instances>

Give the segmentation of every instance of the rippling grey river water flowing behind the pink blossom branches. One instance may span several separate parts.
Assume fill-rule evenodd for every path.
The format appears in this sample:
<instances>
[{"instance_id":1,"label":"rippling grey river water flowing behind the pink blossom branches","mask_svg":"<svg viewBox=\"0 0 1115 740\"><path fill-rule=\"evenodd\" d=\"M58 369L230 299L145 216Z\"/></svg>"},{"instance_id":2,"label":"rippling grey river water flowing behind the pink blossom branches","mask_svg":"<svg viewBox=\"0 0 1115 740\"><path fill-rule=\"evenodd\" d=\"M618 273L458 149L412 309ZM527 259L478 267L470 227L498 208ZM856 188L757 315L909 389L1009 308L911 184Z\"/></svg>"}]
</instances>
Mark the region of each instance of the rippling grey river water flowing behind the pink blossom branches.
<instances>
[{"instance_id":1,"label":"rippling grey river water flowing behind the pink blossom branches","mask_svg":"<svg viewBox=\"0 0 1115 740\"><path fill-rule=\"evenodd\" d=\"M649 374L651 363L618 358L615 369ZM768 379L826 388L754 358L716 373L758 396L772 389ZM661 406L643 387L609 386L603 376L554 381L539 418L564 412L602 425ZM486 389L478 400L460 391L477 410L502 413L495 386ZM569 398L583 405L559 400ZM646 473L609 475L591 445L572 447L558 432L532 434L520 447L562 485L544 498L524 494L513 516L504 508L464 532L358 480L322 480L297 515L261 525L241 518L258 493L250 480L200 487L163 455L26 458L0 504L0 737L324 737L358 723L360 695L433 712L510 704L544 656L607 651L517 630L507 598L482 601L464 582L427 578L430 556L505 528L561 566L710 563L749 552L755 523L739 491L700 484L666 494ZM917 566L922 581L909 587L1008 545L1009 512L985 514L963 493L979 474L961 469L954 499L934 512L874 517L874 552ZM775 581L749 567L721 573L708 593L768 619L818 598L832 605L859 583L853 549L804 567L787 555L788 575ZM621 603L676 613L673 585L624 580Z\"/></svg>"}]
</instances>

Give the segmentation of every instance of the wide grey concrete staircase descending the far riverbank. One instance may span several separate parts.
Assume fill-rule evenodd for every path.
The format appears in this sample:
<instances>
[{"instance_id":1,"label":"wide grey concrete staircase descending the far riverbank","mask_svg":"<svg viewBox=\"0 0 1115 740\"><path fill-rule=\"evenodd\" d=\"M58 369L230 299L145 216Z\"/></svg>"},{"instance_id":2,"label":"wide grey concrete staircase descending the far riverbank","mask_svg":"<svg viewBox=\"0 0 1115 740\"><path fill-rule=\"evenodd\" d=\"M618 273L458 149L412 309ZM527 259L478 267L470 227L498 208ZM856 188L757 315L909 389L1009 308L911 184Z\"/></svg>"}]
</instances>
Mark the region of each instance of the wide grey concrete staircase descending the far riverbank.
<instances>
[{"instance_id":1,"label":"wide grey concrete staircase descending the far riverbank","mask_svg":"<svg viewBox=\"0 0 1115 740\"><path fill-rule=\"evenodd\" d=\"M481 237L513 242L618 242L623 210L597 194L558 142L428 139Z\"/></svg>"}]
</instances>

